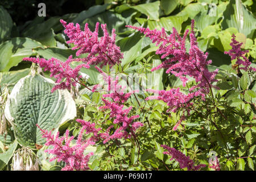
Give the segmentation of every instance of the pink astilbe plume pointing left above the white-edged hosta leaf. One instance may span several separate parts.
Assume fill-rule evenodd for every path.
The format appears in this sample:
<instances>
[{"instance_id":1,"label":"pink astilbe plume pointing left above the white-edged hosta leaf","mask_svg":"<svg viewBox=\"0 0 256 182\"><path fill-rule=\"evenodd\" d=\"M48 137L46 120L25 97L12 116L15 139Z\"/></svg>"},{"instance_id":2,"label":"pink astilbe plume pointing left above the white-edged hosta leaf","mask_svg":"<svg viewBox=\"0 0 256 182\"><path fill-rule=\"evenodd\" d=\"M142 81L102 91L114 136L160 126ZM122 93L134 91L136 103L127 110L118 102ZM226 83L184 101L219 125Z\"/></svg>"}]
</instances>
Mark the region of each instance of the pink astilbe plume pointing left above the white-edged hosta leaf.
<instances>
[{"instance_id":1,"label":"pink astilbe plume pointing left above the white-edged hosta leaf","mask_svg":"<svg viewBox=\"0 0 256 182\"><path fill-rule=\"evenodd\" d=\"M56 85L53 86L51 92L54 92L57 89L71 89L71 86L76 86L80 82L82 75L79 75L79 71L82 67L86 68L86 64L77 65L76 68L71 68L69 65L76 59L72 59L72 55L63 62L56 58L51 58L46 60L39 57L24 57L23 61L31 61L32 63L39 64L41 68L44 68L44 71L50 71L51 77L55 77Z\"/></svg>"}]
</instances>

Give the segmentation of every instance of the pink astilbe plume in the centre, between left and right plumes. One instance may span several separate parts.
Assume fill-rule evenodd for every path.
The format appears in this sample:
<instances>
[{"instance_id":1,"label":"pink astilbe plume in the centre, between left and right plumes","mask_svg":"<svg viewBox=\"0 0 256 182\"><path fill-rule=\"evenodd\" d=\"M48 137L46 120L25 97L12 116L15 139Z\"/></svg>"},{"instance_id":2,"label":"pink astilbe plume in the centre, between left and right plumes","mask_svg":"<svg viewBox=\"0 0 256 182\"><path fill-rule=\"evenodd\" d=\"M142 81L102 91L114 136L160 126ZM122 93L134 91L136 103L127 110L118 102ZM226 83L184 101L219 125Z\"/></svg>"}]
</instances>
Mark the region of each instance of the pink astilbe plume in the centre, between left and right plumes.
<instances>
[{"instance_id":1,"label":"pink astilbe plume in the centre, between left and right plumes","mask_svg":"<svg viewBox=\"0 0 256 182\"><path fill-rule=\"evenodd\" d=\"M102 101L104 102L104 106L101 106L102 110L110 110L110 118L113 118L113 124L118 124L118 128L114 131L112 135L105 133L104 143L108 142L112 139L120 139L120 138L130 138L135 137L135 131L143 126L141 122L134 122L134 119L139 118L139 115L131 115L129 117L129 113L132 107L128 107L124 109L123 105L133 94L133 92L125 93L121 85L118 85L118 77L115 77L115 80L106 75L106 73L102 72L100 68L96 67L96 69L103 76L104 81L108 84L108 89L105 90L108 93L102 95ZM106 98L110 98L109 101ZM113 126L110 126L113 128ZM110 130L109 128L109 130Z\"/></svg>"}]
</instances>

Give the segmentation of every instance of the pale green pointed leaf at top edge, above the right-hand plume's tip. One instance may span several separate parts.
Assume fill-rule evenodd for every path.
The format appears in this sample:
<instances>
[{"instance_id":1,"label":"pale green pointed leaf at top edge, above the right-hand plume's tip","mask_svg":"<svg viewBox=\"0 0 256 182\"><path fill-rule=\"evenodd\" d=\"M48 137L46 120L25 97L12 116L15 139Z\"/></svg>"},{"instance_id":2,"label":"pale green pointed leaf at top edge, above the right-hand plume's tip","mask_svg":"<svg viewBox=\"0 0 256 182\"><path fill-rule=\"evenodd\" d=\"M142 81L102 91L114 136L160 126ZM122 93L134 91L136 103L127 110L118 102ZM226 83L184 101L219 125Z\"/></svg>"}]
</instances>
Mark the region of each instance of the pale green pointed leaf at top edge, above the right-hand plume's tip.
<instances>
[{"instance_id":1,"label":"pale green pointed leaf at top edge, above the right-hand plume's tip","mask_svg":"<svg viewBox=\"0 0 256 182\"><path fill-rule=\"evenodd\" d=\"M142 14L147 15L149 19L158 20L159 19L159 13L158 13L159 6L160 6L160 1L155 1L152 3L131 6L131 8L138 10Z\"/></svg>"}]
</instances>

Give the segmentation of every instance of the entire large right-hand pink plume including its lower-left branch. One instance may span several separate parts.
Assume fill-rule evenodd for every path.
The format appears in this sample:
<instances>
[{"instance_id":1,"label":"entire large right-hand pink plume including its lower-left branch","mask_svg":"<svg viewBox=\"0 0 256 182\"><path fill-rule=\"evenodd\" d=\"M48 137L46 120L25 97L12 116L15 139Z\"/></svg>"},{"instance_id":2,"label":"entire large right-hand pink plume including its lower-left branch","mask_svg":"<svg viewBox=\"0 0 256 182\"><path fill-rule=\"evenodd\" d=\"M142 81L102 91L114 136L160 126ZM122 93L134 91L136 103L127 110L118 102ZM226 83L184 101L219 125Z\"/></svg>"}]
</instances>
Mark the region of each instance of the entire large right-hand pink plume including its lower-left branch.
<instances>
[{"instance_id":1,"label":"entire large right-hand pink plume including its lower-left branch","mask_svg":"<svg viewBox=\"0 0 256 182\"><path fill-rule=\"evenodd\" d=\"M175 28L172 28L172 34L167 35L164 28L161 31L150 30L149 28L134 27L134 30L138 30L146 37L150 38L153 43L159 48L156 50L156 54L162 55L161 59L164 59L163 63L151 71L156 69L164 68L167 69L166 73L172 73L176 77L179 77L183 82L183 86L187 85L187 76L195 78L196 85L189 89L189 94L184 94L179 88L173 88L171 90L148 90L148 92L155 93L155 96L147 97L146 100L162 100L167 103L170 107L167 111L176 112L179 108L187 111L189 115L189 106L193 98L201 96L202 100L205 100L205 94L209 93L212 89L212 83L217 81L214 79L218 69L214 72L209 72L207 65L212 63L212 60L207 60L208 53L201 51L197 45L195 31L195 21L191 21L191 33L189 34L190 49L189 52L185 48L185 39L188 35L189 30L184 32L181 37ZM185 119L184 114L181 119L175 125L173 130L177 129L181 121Z\"/></svg>"}]
</instances>

